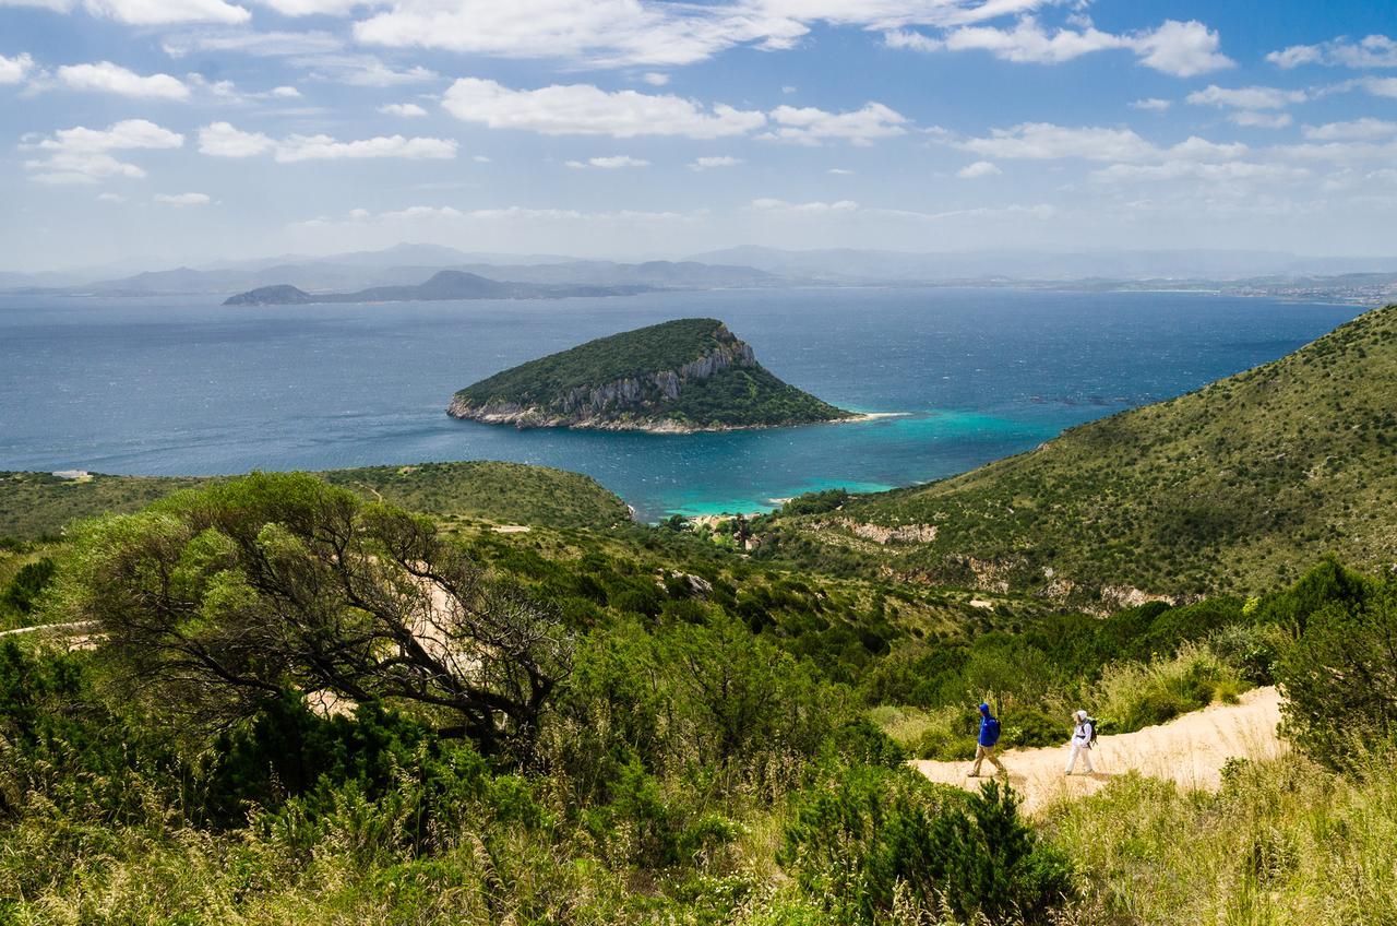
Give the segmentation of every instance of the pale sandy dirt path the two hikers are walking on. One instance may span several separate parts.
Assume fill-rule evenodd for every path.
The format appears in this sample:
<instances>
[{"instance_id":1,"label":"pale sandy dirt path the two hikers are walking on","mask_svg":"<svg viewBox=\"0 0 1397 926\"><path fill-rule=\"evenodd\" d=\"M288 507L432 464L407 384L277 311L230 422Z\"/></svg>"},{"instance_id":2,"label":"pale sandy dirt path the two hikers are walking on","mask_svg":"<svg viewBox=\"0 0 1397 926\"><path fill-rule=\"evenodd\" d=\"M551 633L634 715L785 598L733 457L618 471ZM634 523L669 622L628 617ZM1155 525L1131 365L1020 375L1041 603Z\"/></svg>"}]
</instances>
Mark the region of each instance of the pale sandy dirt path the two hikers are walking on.
<instances>
[{"instance_id":1,"label":"pale sandy dirt path the two hikers are walking on","mask_svg":"<svg viewBox=\"0 0 1397 926\"><path fill-rule=\"evenodd\" d=\"M1066 727L1063 746L1010 750L1000 755L1000 761L1009 769L1009 782L1024 795L1024 810L1028 813L1063 796L1090 795L1112 776L1129 771L1172 779L1182 788L1213 790L1221 785L1222 764L1228 758L1274 758L1285 751L1285 744L1275 736L1280 719L1281 697L1275 688L1255 688L1238 704L1213 705L1136 733L1099 737L1091 755L1095 775L1084 775L1081 761L1076 775L1063 775L1067 765ZM922 760L912 765L933 782L972 789L981 781L965 776L970 762ZM982 775L993 772L988 762L981 768Z\"/></svg>"}]
</instances>

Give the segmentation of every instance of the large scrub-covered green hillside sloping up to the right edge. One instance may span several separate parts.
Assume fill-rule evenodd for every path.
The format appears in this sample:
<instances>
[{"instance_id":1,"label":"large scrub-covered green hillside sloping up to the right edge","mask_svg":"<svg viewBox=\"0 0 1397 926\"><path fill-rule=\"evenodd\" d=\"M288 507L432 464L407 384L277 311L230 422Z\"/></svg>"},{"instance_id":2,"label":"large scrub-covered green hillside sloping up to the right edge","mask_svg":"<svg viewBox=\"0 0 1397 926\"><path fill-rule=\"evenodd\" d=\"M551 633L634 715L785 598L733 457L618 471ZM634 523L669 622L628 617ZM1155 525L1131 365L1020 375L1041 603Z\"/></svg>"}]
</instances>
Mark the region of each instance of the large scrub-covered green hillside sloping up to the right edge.
<instances>
[{"instance_id":1,"label":"large scrub-covered green hillside sloping up to the right edge","mask_svg":"<svg viewBox=\"0 0 1397 926\"><path fill-rule=\"evenodd\" d=\"M1397 547L1393 396L1397 306L1387 306L1275 362L1030 453L856 498L837 518L788 520L787 550L1077 600L1120 586L1102 596L1108 606L1129 600L1130 586L1175 596L1266 587L1327 553L1386 568ZM902 527L909 540L879 544L868 525Z\"/></svg>"}]
</instances>

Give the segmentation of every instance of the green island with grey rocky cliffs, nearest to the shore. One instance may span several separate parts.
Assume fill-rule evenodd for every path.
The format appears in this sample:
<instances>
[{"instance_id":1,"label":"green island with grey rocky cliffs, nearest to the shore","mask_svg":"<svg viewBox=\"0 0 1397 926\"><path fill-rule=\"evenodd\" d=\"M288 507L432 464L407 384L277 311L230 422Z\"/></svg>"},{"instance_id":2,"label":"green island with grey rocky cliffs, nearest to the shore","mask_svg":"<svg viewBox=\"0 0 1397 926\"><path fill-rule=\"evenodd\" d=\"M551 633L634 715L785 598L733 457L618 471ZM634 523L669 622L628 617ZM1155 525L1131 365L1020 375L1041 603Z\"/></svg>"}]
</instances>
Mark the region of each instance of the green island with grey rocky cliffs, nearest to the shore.
<instances>
[{"instance_id":1,"label":"green island with grey rocky cliffs, nearest to the shore","mask_svg":"<svg viewBox=\"0 0 1397 926\"><path fill-rule=\"evenodd\" d=\"M521 364L455 393L447 413L518 428L687 434L859 415L782 382L717 319L679 319Z\"/></svg>"}]
</instances>

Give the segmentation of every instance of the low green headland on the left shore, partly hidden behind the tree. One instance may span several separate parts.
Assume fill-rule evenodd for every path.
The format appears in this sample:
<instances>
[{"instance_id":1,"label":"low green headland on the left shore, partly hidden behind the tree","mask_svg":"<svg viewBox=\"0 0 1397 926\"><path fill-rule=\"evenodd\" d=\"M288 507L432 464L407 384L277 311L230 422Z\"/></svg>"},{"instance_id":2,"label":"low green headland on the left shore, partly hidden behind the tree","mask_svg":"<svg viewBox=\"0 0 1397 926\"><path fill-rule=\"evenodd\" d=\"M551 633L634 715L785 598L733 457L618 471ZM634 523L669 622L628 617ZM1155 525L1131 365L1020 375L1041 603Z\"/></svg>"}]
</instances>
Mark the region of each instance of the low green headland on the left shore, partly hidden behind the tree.
<instances>
[{"instance_id":1,"label":"low green headland on the left shore, partly hidden behind the tree","mask_svg":"<svg viewBox=\"0 0 1397 926\"><path fill-rule=\"evenodd\" d=\"M423 463L319 476L365 498L443 519L550 527L609 527L630 519L626 504L591 477L542 466ZM0 537L57 536L74 520L140 511L179 490L215 481L222 477L92 474L64 480L47 473L0 473Z\"/></svg>"}]
</instances>

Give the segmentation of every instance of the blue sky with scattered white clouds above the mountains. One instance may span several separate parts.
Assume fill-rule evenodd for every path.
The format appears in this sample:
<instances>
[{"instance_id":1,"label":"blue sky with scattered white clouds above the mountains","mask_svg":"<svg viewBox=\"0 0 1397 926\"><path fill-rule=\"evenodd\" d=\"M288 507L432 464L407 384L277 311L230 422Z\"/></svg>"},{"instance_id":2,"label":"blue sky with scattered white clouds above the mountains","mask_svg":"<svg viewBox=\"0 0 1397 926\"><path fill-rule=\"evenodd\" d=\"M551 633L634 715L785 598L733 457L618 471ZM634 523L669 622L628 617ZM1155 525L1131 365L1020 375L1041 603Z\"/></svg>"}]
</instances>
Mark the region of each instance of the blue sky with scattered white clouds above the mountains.
<instances>
[{"instance_id":1,"label":"blue sky with scattered white clouds above the mountains","mask_svg":"<svg viewBox=\"0 0 1397 926\"><path fill-rule=\"evenodd\" d=\"M1389 0L0 0L0 269L1397 255Z\"/></svg>"}]
</instances>

